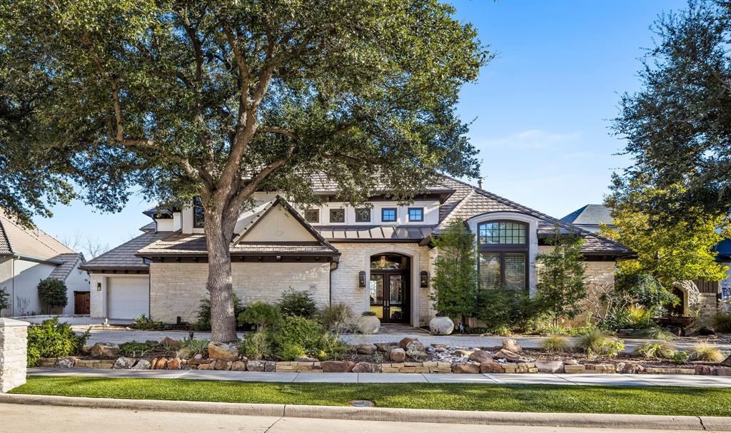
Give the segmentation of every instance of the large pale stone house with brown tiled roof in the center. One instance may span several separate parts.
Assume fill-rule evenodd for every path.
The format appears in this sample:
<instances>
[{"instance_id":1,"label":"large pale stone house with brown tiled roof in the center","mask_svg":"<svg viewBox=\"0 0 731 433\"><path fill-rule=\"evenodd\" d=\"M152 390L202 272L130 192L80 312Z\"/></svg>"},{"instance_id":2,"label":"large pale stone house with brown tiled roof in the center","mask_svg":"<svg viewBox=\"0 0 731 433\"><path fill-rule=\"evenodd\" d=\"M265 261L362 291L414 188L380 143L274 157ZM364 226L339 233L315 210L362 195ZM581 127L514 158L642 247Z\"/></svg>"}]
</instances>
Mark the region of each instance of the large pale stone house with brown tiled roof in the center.
<instances>
[{"instance_id":1,"label":"large pale stone house with brown tiled roof in the center","mask_svg":"<svg viewBox=\"0 0 731 433\"><path fill-rule=\"evenodd\" d=\"M477 234L481 288L534 293L535 258L557 229L585 237L591 280L613 284L618 258L631 251L616 242L450 177L407 206L374 194L368 207L338 201L336 186L315 178L322 207L300 207L277 193L256 193L230 245L233 288L245 304L275 302L292 288L309 291L320 306L344 302L388 323L423 326L436 250L432 237L452 221ZM202 207L145 212L144 234L88 261L91 315L157 321L195 321L208 275Z\"/></svg>"}]
</instances>

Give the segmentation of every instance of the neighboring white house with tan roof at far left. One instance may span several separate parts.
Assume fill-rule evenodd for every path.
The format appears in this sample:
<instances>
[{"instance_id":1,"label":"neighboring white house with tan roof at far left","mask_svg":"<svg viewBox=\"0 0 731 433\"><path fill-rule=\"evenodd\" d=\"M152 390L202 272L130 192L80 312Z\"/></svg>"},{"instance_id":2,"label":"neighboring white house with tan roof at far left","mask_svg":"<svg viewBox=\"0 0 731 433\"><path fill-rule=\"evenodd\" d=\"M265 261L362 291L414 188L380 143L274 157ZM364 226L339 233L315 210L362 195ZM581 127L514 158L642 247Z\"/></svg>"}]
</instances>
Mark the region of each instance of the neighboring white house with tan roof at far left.
<instances>
[{"instance_id":1,"label":"neighboring white house with tan roof at far left","mask_svg":"<svg viewBox=\"0 0 731 433\"><path fill-rule=\"evenodd\" d=\"M0 288L12 307L3 316L45 314L38 283L53 277L66 283L69 303L62 314L89 313L89 276L79 267L84 257L39 229L26 229L0 210Z\"/></svg>"}]
</instances>

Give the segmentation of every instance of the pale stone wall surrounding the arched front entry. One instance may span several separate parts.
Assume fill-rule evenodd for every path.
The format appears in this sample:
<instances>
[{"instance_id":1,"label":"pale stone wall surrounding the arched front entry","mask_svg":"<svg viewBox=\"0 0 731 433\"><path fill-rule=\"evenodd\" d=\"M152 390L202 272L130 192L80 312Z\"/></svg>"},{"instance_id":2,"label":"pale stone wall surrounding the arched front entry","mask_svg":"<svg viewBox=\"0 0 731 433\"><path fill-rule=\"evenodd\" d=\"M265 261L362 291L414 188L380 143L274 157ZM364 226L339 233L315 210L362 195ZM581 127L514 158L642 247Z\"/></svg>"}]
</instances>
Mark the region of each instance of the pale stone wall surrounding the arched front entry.
<instances>
[{"instance_id":1,"label":"pale stone wall surrounding the arched front entry","mask_svg":"<svg viewBox=\"0 0 731 433\"><path fill-rule=\"evenodd\" d=\"M419 271L429 271L431 277L430 251L428 247L421 247L417 243L381 243L381 242L360 242L360 243L333 243L341 253L338 269L333 271L333 304L342 302L350 305L355 315L360 315L370 308L366 305L366 288L358 287L358 272L365 271L370 267L367 257L379 253L400 253L411 255L418 254L419 261L412 261L412 271L418 267ZM412 272L413 274L413 272ZM413 280L413 277L412 277ZM433 317L431 301L429 300L430 288L420 288L419 280L412 281L412 296L419 298L419 321L418 325L426 325Z\"/></svg>"}]
</instances>

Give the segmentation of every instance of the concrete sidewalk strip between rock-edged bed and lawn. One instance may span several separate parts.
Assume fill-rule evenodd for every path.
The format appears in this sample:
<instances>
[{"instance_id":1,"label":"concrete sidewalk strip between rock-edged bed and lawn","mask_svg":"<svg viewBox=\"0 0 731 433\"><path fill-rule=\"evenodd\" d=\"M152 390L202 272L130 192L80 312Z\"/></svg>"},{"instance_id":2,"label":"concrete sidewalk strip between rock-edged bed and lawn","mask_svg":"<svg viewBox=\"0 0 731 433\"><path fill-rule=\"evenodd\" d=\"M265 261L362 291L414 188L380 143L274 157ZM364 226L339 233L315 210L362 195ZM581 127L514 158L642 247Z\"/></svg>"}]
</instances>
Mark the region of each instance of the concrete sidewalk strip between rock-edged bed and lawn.
<instances>
[{"instance_id":1,"label":"concrete sidewalk strip between rock-edged bed and lawn","mask_svg":"<svg viewBox=\"0 0 731 433\"><path fill-rule=\"evenodd\" d=\"M31 368L29 375L91 378L154 378L189 380L234 380L281 383L484 383L488 385L592 385L592 386L697 386L731 388L731 377L701 375L525 375L451 373L298 373L231 372L216 370L126 370Z\"/></svg>"}]
</instances>

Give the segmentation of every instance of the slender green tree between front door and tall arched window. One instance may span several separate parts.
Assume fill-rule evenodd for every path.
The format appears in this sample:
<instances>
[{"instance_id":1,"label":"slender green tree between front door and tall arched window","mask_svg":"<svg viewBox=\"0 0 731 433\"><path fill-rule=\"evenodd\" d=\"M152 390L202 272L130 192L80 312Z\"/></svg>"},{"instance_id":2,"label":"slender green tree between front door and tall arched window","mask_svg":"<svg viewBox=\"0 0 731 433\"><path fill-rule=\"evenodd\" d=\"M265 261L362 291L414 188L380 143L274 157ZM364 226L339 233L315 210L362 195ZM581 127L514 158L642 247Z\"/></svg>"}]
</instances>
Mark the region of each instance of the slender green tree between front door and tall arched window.
<instances>
[{"instance_id":1,"label":"slender green tree between front door and tall arched window","mask_svg":"<svg viewBox=\"0 0 731 433\"><path fill-rule=\"evenodd\" d=\"M462 321L472 315L477 295L474 234L463 221L455 221L435 237L437 256L431 278L431 300L439 315Z\"/></svg>"}]
</instances>

